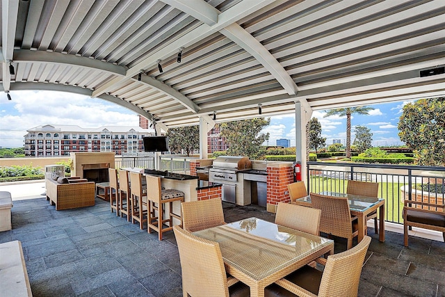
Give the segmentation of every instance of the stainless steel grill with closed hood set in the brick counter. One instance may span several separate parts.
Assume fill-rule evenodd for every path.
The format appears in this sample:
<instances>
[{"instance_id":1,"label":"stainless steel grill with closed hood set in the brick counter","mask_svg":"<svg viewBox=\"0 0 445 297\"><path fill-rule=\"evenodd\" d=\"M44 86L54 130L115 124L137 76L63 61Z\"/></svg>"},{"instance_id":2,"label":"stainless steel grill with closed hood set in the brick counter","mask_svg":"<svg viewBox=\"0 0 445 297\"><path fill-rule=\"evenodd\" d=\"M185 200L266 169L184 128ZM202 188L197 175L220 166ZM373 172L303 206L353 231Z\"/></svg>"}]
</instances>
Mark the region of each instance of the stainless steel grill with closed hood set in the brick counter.
<instances>
[{"instance_id":1,"label":"stainless steel grill with closed hood set in the brick counter","mask_svg":"<svg viewBox=\"0 0 445 297\"><path fill-rule=\"evenodd\" d=\"M220 182L223 184L223 201L236 203L238 172L249 170L252 162L247 156L218 156L209 169L209 182Z\"/></svg>"}]
</instances>

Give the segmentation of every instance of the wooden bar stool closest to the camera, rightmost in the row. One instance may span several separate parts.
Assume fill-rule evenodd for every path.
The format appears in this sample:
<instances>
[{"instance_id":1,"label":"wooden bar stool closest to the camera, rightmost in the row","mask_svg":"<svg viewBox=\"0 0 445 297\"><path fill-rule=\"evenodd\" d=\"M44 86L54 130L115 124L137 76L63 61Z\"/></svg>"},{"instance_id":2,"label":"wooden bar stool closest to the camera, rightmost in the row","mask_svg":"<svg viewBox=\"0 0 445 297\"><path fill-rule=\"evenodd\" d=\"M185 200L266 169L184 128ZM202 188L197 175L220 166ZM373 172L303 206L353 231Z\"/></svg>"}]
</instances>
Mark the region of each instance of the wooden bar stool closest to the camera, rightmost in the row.
<instances>
[{"instance_id":1,"label":"wooden bar stool closest to the camera, rightmost in the row","mask_svg":"<svg viewBox=\"0 0 445 297\"><path fill-rule=\"evenodd\" d=\"M173 218L177 218L182 225L181 215L173 213L173 202L184 202L184 193L181 191L168 188L166 190L161 189L161 178L154 177L152 175L145 176L147 179L147 199L148 199L148 223L147 231L152 233L152 230L158 232L159 240L162 240L163 232L173 230ZM169 216L163 218L165 212L164 205L169 204ZM156 216L158 211L158 216ZM168 227L164 227L164 223L169 223Z\"/></svg>"}]
</instances>

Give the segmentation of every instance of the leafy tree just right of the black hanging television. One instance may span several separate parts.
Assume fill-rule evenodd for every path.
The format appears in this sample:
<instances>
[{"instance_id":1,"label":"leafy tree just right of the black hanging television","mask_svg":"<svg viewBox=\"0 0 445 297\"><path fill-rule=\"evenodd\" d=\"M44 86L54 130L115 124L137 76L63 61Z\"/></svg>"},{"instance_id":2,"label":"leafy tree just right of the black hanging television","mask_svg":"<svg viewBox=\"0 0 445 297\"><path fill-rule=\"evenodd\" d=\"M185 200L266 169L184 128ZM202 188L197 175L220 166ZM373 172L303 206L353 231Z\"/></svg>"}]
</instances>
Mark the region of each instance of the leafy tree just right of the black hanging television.
<instances>
[{"instance_id":1,"label":"leafy tree just right of the black hanging television","mask_svg":"<svg viewBox=\"0 0 445 297\"><path fill-rule=\"evenodd\" d=\"M200 149L200 127L198 126L170 128L167 136L170 152L180 154L184 150L187 156L190 156L195 150Z\"/></svg>"}]
</instances>

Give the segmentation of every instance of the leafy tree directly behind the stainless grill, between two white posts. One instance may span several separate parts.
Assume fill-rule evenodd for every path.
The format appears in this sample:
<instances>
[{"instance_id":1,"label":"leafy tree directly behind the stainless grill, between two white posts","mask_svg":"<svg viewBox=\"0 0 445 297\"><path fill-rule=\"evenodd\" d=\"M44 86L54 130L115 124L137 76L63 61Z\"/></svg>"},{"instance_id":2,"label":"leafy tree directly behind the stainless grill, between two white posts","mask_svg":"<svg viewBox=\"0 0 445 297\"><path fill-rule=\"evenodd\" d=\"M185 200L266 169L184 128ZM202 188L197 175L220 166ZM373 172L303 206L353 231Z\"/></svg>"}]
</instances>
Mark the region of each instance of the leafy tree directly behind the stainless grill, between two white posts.
<instances>
[{"instance_id":1,"label":"leafy tree directly behind the stainless grill, between two white posts","mask_svg":"<svg viewBox=\"0 0 445 297\"><path fill-rule=\"evenodd\" d=\"M266 147L262 145L268 141L269 134L261 130L270 124L270 118L252 118L221 124L221 136L225 137L229 148L229 156L248 156L250 159L263 159Z\"/></svg>"}]
</instances>

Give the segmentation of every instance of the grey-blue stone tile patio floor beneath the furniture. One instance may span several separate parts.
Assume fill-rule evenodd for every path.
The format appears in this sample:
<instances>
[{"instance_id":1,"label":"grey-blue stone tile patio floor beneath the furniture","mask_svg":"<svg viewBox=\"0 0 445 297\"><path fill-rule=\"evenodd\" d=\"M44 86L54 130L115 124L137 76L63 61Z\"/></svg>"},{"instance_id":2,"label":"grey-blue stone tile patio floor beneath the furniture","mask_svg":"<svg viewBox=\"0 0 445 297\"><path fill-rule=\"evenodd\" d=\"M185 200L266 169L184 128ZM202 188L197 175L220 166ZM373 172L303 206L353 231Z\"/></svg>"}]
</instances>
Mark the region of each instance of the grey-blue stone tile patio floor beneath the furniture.
<instances>
[{"instance_id":1,"label":"grey-blue stone tile patio floor beneath the furniture","mask_svg":"<svg viewBox=\"0 0 445 297\"><path fill-rule=\"evenodd\" d=\"M225 220L274 214L257 206L224 202ZM181 265L172 232L139 230L111 214L108 202L56 211L44 198L14 201L13 230L0 232L0 243L22 241L33 296L182 296ZM445 243L386 232L373 237L359 296L445 296ZM335 238L335 252L346 240Z\"/></svg>"}]
</instances>

